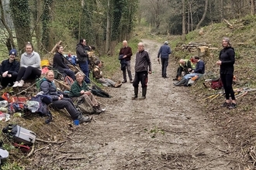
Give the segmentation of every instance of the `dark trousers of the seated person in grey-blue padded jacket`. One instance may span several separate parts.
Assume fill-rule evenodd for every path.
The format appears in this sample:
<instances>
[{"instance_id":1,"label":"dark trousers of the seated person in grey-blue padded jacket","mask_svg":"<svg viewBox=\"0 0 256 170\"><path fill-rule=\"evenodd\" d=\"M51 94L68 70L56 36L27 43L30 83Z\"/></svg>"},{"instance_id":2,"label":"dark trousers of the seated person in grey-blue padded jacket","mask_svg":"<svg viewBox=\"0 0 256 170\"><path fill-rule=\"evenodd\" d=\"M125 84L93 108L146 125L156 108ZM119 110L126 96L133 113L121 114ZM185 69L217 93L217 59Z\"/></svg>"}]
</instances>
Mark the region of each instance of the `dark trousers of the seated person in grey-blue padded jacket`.
<instances>
[{"instance_id":1,"label":"dark trousers of the seated person in grey-blue padded jacket","mask_svg":"<svg viewBox=\"0 0 256 170\"><path fill-rule=\"evenodd\" d=\"M63 98L61 100L54 100L52 103L54 109L67 109L68 114L71 115L72 119L77 119L81 114L75 107L70 98Z\"/></svg>"}]
</instances>

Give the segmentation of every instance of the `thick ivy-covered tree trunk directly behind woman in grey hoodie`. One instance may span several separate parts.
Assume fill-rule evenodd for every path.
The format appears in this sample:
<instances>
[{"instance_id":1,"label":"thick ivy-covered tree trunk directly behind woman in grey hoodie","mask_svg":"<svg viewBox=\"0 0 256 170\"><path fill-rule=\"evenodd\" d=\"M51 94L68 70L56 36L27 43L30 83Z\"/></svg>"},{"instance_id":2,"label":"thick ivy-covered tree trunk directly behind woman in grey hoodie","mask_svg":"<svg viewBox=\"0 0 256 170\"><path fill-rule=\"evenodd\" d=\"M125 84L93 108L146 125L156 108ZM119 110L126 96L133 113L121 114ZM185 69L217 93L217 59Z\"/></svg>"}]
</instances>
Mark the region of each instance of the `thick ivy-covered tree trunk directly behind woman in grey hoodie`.
<instances>
[{"instance_id":1,"label":"thick ivy-covered tree trunk directly behind woman in grey hoodie","mask_svg":"<svg viewBox=\"0 0 256 170\"><path fill-rule=\"evenodd\" d=\"M10 0L13 24L19 50L25 51L26 42L31 42L30 8L28 0Z\"/></svg>"}]
</instances>

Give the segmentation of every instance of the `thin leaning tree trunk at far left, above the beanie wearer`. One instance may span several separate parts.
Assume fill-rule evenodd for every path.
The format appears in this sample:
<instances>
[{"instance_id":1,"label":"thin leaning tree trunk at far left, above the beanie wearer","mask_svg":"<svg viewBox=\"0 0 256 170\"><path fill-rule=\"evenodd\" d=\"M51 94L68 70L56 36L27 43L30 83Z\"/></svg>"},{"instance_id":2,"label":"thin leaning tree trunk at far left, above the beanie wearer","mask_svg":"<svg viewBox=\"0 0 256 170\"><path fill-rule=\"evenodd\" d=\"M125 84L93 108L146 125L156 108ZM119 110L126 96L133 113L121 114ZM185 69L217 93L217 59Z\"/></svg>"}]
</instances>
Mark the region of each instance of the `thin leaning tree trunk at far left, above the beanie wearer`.
<instances>
[{"instance_id":1,"label":"thin leaning tree trunk at far left, above the beanie wearer","mask_svg":"<svg viewBox=\"0 0 256 170\"><path fill-rule=\"evenodd\" d=\"M7 46L7 49L11 50L11 49L14 49L16 46L13 41L12 30L9 28L9 26L7 25L6 20L5 20L5 12L4 12L4 8L3 8L1 0L0 0L0 11L1 11L2 25L5 26L5 29L7 30L8 35L9 35L9 37L6 39L5 44Z\"/></svg>"}]
</instances>

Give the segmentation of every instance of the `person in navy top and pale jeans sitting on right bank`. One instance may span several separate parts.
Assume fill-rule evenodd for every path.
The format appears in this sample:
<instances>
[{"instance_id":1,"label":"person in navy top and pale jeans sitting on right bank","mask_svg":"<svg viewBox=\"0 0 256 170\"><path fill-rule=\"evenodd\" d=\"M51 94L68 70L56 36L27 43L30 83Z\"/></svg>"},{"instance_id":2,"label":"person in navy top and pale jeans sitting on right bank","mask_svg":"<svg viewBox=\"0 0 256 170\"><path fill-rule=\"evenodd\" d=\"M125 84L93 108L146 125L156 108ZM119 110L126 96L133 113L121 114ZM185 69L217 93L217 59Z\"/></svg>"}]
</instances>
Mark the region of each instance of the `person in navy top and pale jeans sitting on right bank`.
<instances>
[{"instance_id":1,"label":"person in navy top and pale jeans sitting on right bank","mask_svg":"<svg viewBox=\"0 0 256 170\"><path fill-rule=\"evenodd\" d=\"M200 77L202 74L205 73L205 63L199 59L199 56L195 56L195 70L192 70L192 73L186 74L185 76L182 77L182 80L180 80L177 83L173 83L175 86L188 86L189 79L197 76Z\"/></svg>"}]
</instances>

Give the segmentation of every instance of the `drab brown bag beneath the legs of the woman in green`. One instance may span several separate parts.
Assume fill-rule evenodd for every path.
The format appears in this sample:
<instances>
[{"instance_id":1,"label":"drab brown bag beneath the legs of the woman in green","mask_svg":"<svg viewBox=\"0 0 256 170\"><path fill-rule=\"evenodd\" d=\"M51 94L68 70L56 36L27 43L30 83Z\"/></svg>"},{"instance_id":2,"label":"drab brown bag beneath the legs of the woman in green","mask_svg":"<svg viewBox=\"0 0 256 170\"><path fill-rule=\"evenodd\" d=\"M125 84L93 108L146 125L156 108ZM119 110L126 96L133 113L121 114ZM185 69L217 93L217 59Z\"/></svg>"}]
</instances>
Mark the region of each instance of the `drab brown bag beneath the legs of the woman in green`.
<instances>
[{"instance_id":1,"label":"drab brown bag beneath the legs of the woman in green","mask_svg":"<svg viewBox=\"0 0 256 170\"><path fill-rule=\"evenodd\" d=\"M83 97L83 96L78 97L74 101L74 105L83 114L94 114L95 113L95 110L92 108L92 106L90 104L88 104L88 102L86 102L85 97Z\"/></svg>"}]
</instances>

